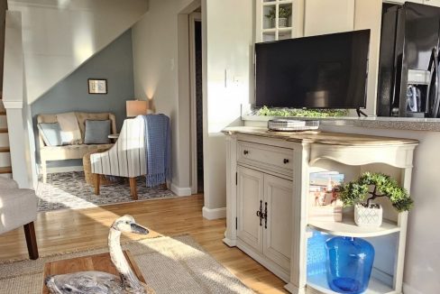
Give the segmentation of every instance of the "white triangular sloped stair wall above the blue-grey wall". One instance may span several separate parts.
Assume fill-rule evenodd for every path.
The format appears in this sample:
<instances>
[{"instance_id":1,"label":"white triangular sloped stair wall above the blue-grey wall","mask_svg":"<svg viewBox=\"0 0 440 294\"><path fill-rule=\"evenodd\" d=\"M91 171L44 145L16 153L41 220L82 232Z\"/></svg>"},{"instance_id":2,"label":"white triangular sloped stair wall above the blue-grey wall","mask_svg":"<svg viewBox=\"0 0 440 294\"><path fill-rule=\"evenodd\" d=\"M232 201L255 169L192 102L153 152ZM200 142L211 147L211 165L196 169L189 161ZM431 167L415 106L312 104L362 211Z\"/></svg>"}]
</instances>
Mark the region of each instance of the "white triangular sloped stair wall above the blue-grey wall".
<instances>
[{"instance_id":1,"label":"white triangular sloped stair wall above the blue-grey wall","mask_svg":"<svg viewBox=\"0 0 440 294\"><path fill-rule=\"evenodd\" d=\"M145 0L9 0L8 6L22 13L28 104L147 11Z\"/></svg>"}]
</instances>

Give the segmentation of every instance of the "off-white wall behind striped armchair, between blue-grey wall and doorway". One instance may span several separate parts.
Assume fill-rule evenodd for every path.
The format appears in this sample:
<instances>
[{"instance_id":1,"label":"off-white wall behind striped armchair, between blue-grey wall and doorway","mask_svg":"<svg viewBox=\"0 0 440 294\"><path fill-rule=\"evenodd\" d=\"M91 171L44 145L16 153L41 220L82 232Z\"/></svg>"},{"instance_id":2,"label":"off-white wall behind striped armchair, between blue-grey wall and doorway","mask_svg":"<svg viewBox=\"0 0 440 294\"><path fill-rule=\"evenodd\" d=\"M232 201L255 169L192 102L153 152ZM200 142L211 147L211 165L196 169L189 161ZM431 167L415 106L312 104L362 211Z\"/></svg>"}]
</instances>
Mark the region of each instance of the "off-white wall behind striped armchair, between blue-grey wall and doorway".
<instances>
[{"instance_id":1,"label":"off-white wall behind striped armchair, between blue-grey wall and doorway","mask_svg":"<svg viewBox=\"0 0 440 294\"><path fill-rule=\"evenodd\" d=\"M150 105L156 113L170 116L171 188L179 195L190 194L191 184L189 101L179 97L178 19L192 2L151 0L149 12L132 29L134 94L136 98L151 99ZM188 48L180 50L188 51Z\"/></svg>"}]
</instances>

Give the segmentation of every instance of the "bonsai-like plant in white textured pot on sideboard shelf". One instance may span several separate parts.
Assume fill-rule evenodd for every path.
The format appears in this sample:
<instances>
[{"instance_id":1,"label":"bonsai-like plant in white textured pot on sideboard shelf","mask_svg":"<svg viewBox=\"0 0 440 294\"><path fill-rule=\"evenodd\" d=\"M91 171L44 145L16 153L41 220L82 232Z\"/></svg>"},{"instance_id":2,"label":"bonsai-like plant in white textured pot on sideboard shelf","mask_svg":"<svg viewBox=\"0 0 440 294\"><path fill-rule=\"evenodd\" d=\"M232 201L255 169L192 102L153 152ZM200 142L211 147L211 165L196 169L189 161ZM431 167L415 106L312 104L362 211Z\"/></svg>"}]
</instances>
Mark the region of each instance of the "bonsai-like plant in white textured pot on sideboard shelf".
<instances>
[{"instance_id":1,"label":"bonsai-like plant in white textured pot on sideboard shelf","mask_svg":"<svg viewBox=\"0 0 440 294\"><path fill-rule=\"evenodd\" d=\"M389 198L399 212L408 211L414 202L405 188L383 173L364 172L359 179L341 185L338 189L344 207L354 206L354 222L359 226L381 225L382 207L372 202L376 198ZM370 198L364 202L367 195Z\"/></svg>"}]
</instances>

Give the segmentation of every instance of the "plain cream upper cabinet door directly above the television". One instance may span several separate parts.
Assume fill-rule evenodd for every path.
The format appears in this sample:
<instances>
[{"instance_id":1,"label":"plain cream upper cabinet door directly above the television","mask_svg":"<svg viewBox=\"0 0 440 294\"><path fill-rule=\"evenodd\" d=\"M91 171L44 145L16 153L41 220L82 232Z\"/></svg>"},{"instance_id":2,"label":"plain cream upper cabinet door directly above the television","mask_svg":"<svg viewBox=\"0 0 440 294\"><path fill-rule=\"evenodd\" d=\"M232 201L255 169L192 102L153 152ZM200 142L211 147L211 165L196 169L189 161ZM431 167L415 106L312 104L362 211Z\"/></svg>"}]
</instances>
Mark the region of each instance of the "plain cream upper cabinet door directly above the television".
<instances>
[{"instance_id":1,"label":"plain cream upper cabinet door directly above the television","mask_svg":"<svg viewBox=\"0 0 440 294\"><path fill-rule=\"evenodd\" d=\"M354 0L306 0L304 8L305 36L354 29Z\"/></svg>"}]
</instances>

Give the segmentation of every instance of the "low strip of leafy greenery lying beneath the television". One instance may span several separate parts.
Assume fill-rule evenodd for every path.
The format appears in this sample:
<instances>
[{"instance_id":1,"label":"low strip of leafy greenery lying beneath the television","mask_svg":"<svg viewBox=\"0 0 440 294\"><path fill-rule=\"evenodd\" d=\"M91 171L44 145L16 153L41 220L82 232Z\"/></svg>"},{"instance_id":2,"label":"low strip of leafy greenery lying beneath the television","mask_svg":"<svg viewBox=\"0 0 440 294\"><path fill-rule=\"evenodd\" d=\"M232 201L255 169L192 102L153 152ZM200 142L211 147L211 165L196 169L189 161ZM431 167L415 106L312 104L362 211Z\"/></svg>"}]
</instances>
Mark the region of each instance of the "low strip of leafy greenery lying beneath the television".
<instances>
[{"instance_id":1,"label":"low strip of leafy greenery lying beneath the television","mask_svg":"<svg viewBox=\"0 0 440 294\"><path fill-rule=\"evenodd\" d=\"M337 117L348 115L346 109L296 109L296 108L269 108L262 106L256 115L263 116L296 116L296 117Z\"/></svg>"}]
</instances>

